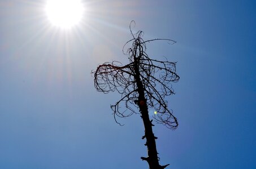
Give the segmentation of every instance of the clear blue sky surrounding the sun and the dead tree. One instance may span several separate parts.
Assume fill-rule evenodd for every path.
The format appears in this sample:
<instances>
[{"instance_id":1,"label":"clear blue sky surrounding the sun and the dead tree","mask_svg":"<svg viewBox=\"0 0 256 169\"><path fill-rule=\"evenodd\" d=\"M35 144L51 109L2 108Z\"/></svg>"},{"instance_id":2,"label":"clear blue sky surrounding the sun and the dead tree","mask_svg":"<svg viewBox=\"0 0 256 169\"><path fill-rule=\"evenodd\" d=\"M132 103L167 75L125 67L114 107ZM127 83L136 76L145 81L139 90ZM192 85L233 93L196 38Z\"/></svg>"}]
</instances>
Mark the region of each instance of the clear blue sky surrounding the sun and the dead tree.
<instances>
[{"instance_id":1,"label":"clear blue sky surrounding the sun and the dead tree","mask_svg":"<svg viewBox=\"0 0 256 169\"><path fill-rule=\"evenodd\" d=\"M175 169L256 168L256 2L83 0L80 24L63 30L46 1L0 1L0 168L148 168L139 115L115 123L90 74L128 63L132 30L153 59L177 62L168 106L179 121L155 125L160 164Z\"/></svg>"}]
</instances>

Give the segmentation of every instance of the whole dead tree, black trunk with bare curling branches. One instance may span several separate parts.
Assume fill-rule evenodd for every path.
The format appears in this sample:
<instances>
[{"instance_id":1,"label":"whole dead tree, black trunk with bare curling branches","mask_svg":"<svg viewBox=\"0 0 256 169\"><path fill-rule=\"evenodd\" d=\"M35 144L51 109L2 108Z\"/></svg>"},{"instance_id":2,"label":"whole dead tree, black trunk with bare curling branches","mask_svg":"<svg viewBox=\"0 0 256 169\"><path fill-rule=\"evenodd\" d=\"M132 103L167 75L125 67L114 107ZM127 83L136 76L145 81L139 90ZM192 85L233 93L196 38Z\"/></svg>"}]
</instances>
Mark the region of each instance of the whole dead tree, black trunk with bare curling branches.
<instances>
[{"instance_id":1,"label":"whole dead tree, black trunk with bare curling branches","mask_svg":"<svg viewBox=\"0 0 256 169\"><path fill-rule=\"evenodd\" d=\"M134 21L131 22L131 24ZM177 126L177 119L173 116L172 110L168 109L166 96L172 95L173 89L171 82L179 81L179 75L176 74L176 63L170 61L159 61L150 59L146 54L146 43L151 41L164 40L172 44L176 43L171 39L150 39L144 41L142 39L144 33L138 31L132 34L132 39L125 43L123 53L128 56L129 64L122 65L118 61L112 63L104 63L99 65L94 74L94 86L97 91L105 94L110 91L118 91L122 98L114 105L111 105L114 119L119 123L116 117L129 117L140 110L141 118L144 122L148 157L141 157L147 161L150 169L165 168L169 164L160 166L157 153L157 146L152 126L153 119L149 118L149 108L154 109L153 118L155 122L162 123L164 126L174 130ZM124 48L128 47L124 52ZM121 104L124 104L122 108ZM120 124L120 123L119 123ZM121 125L121 124L120 124Z\"/></svg>"}]
</instances>

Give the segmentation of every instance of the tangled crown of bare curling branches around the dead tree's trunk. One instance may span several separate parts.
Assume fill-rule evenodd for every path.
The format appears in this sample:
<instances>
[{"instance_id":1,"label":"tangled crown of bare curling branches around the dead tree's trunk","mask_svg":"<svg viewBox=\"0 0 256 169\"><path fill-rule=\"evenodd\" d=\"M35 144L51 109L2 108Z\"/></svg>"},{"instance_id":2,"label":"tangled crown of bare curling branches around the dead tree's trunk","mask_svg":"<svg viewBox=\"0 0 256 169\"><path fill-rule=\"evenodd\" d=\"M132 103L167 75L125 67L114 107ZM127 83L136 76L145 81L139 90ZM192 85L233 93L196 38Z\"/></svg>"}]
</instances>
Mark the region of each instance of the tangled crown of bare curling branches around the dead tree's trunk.
<instances>
[{"instance_id":1,"label":"tangled crown of bare curling branches around the dead tree's trunk","mask_svg":"<svg viewBox=\"0 0 256 169\"><path fill-rule=\"evenodd\" d=\"M167 108L167 101L165 97L174 94L170 82L179 81L179 75L176 74L176 63L170 61L159 61L150 59L146 54L146 42L151 41L171 41L171 39L150 39L143 41L143 32L138 31L133 33L131 25L135 24L134 21L129 25L132 39L125 43L124 47L131 43L131 47L127 49L127 52L123 52L128 55L129 64L122 65L118 61L112 63L104 63L99 65L94 73L94 86L97 91L105 94L110 91L118 91L122 94L122 99L116 102L115 105L111 105L111 109L114 111L114 117L128 117L136 112L134 108L138 108L138 105L134 103L134 100L138 99L137 84L134 79L135 75L135 62L139 65L139 72L141 82L145 90L145 96L147 100L147 106L157 110L158 115L154 117L157 123L162 123L168 128L175 129L177 127L177 119L173 116L170 110ZM120 106L124 103L124 107ZM123 109L123 110L122 110ZM127 109L131 111L127 112ZM116 120L116 118L115 118Z\"/></svg>"}]
</instances>

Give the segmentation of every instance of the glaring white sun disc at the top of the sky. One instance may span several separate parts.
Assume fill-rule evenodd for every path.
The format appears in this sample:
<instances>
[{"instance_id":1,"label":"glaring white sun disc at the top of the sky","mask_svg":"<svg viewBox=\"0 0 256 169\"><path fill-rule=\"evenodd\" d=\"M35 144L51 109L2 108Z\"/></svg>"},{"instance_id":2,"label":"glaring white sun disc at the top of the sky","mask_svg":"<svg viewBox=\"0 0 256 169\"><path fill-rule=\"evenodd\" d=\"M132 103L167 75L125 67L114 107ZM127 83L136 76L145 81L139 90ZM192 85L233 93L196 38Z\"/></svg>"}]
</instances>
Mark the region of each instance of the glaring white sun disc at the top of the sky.
<instances>
[{"instance_id":1,"label":"glaring white sun disc at the top of the sky","mask_svg":"<svg viewBox=\"0 0 256 169\"><path fill-rule=\"evenodd\" d=\"M54 26L67 29L81 21L84 6L80 0L48 0L45 10Z\"/></svg>"}]
</instances>

